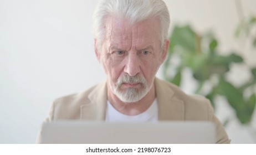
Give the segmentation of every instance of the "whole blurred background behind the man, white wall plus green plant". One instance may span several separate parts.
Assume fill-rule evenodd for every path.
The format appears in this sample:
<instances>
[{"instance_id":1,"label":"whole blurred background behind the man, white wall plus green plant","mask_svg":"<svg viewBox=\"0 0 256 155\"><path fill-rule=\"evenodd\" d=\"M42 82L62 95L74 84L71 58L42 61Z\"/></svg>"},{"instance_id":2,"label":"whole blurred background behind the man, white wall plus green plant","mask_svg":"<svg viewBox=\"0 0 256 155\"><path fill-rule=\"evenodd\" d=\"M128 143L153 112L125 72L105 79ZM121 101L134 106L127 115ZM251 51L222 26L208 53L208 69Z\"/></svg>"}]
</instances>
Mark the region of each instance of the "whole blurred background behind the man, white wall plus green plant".
<instances>
[{"instance_id":1,"label":"whole blurred background behind the man, white wall plus green plant","mask_svg":"<svg viewBox=\"0 0 256 155\"><path fill-rule=\"evenodd\" d=\"M54 99L105 79L97 2L0 0L0 143L35 143ZM232 143L256 143L256 1L165 2L172 46L157 76L207 96Z\"/></svg>"}]
</instances>

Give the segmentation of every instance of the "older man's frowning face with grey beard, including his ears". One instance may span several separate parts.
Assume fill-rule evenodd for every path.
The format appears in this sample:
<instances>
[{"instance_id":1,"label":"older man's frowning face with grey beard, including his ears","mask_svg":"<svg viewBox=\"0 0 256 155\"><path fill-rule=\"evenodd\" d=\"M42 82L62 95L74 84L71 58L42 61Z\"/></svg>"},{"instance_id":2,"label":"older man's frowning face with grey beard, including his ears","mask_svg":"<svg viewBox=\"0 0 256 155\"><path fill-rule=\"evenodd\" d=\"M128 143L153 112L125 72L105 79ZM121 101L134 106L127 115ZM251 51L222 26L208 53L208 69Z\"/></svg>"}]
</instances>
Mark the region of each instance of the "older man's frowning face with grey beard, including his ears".
<instances>
[{"instance_id":1,"label":"older man's frowning face with grey beard, including his ears","mask_svg":"<svg viewBox=\"0 0 256 155\"><path fill-rule=\"evenodd\" d=\"M153 18L133 25L124 19L106 20L106 38L96 54L107 75L108 91L122 102L141 100L153 85L167 50L161 54L159 26Z\"/></svg>"}]
</instances>

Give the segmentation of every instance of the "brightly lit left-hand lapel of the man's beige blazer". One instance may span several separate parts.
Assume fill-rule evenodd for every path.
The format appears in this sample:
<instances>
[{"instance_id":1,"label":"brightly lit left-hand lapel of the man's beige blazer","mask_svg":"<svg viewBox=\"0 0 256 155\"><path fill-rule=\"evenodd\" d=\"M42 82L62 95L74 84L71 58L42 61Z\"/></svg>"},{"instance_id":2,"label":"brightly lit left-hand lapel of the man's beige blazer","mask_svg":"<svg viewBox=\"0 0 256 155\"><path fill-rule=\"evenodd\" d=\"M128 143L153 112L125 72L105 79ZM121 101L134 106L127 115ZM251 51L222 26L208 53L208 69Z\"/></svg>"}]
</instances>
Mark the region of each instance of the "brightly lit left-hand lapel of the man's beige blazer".
<instances>
[{"instance_id":1,"label":"brightly lit left-hand lapel of the man's beige blazer","mask_svg":"<svg viewBox=\"0 0 256 155\"><path fill-rule=\"evenodd\" d=\"M88 95L89 102L81 105L81 120L105 120L107 88L106 81L96 86Z\"/></svg>"}]
</instances>

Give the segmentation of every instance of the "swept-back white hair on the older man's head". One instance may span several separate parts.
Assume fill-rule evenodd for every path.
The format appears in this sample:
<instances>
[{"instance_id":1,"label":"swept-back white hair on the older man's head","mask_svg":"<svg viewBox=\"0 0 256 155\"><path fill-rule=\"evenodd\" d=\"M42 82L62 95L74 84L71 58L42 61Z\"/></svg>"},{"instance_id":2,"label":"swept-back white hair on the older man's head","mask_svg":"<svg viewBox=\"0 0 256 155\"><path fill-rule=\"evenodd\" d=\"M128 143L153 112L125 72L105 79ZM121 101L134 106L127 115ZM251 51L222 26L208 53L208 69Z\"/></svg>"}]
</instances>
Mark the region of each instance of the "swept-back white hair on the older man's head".
<instances>
[{"instance_id":1,"label":"swept-back white hair on the older man's head","mask_svg":"<svg viewBox=\"0 0 256 155\"><path fill-rule=\"evenodd\" d=\"M158 18L161 44L168 38L170 14L162 0L100 0L93 16L98 50L106 37L104 27L107 16L127 19L132 24L149 18Z\"/></svg>"}]
</instances>

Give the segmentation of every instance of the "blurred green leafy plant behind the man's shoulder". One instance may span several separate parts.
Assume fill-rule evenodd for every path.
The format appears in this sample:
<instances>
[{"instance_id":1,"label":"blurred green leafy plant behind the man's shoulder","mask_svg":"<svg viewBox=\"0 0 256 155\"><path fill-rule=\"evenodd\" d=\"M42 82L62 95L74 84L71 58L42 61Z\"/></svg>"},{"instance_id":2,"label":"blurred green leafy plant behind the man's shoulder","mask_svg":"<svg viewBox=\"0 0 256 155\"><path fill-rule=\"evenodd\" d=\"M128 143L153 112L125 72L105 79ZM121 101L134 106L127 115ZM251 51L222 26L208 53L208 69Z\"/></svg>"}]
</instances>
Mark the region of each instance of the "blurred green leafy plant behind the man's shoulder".
<instances>
[{"instance_id":1,"label":"blurred green leafy plant behind the man's shoulder","mask_svg":"<svg viewBox=\"0 0 256 155\"><path fill-rule=\"evenodd\" d=\"M244 27L241 27L237 34L243 32ZM256 95L254 91L250 91L249 97L245 97L244 91L255 87L256 68L248 66L251 80L240 87L235 87L227 80L226 75L232 64L243 64L244 60L234 51L229 55L219 54L218 41L213 34L200 35L189 25L182 27L176 25L170 40L169 54L163 65L165 79L180 86L183 70L190 69L193 78L198 82L196 94L206 96L213 106L216 96L226 97L240 123L249 124L255 109ZM206 84L211 88L207 93L202 89Z\"/></svg>"}]
</instances>

